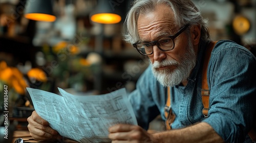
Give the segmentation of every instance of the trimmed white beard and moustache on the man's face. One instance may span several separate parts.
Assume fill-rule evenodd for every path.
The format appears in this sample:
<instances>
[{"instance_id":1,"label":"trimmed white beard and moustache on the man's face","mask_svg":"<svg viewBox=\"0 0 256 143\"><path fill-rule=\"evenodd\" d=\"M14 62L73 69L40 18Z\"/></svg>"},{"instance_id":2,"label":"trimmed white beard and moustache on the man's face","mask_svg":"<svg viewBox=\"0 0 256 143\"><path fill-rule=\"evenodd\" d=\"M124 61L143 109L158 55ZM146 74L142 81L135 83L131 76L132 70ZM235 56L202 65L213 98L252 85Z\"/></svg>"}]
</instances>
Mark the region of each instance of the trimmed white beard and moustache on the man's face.
<instances>
[{"instance_id":1,"label":"trimmed white beard and moustache on the man's face","mask_svg":"<svg viewBox=\"0 0 256 143\"><path fill-rule=\"evenodd\" d=\"M193 44L188 41L188 47L186 54L180 57L181 63L176 60L163 60L155 61L152 65L152 71L156 79L165 87L179 85L182 81L185 81L191 70L196 65L197 56L193 49ZM172 66L172 69L156 69L161 66Z\"/></svg>"}]
</instances>

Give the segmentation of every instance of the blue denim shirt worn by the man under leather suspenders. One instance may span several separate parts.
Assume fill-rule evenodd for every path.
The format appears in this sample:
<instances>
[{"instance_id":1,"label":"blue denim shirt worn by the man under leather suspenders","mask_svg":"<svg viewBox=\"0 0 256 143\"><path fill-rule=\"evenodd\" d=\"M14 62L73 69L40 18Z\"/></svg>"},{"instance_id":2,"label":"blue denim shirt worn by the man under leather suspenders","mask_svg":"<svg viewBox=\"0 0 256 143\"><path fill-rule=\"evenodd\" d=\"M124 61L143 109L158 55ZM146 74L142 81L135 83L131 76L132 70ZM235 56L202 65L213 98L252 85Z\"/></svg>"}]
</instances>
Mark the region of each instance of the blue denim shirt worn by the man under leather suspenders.
<instances>
[{"instance_id":1,"label":"blue denim shirt worn by the man under leather suspenders","mask_svg":"<svg viewBox=\"0 0 256 143\"><path fill-rule=\"evenodd\" d=\"M245 47L232 41L218 41L212 50L207 69L210 89L208 118L202 114L202 64L209 42L201 41L197 64L186 86L170 88L171 104L176 115L173 129L198 122L208 123L226 142L251 142L247 133L253 124L256 108L256 58ZM144 129L158 115L163 120L167 89L148 67L129 99L138 124Z\"/></svg>"}]
</instances>

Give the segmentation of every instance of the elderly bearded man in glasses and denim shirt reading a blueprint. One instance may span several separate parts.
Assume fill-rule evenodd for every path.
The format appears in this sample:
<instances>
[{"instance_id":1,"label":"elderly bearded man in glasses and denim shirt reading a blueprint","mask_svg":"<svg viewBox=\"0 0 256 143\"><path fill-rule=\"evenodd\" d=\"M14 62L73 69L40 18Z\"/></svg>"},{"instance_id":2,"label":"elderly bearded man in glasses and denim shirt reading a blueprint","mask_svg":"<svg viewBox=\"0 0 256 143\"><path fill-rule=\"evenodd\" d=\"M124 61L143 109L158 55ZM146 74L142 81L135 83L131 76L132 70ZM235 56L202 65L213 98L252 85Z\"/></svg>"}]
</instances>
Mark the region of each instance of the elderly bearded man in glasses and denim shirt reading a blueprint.
<instances>
[{"instance_id":1,"label":"elderly bearded man in glasses and denim shirt reading a blueprint","mask_svg":"<svg viewBox=\"0 0 256 143\"><path fill-rule=\"evenodd\" d=\"M248 50L210 41L206 21L190 1L137 0L125 23L125 40L151 65L129 96L139 126L109 128L112 142L252 142L256 58ZM205 80L209 96L202 102ZM158 114L172 130L150 134L148 124ZM36 112L28 122L34 138L58 137Z\"/></svg>"}]
</instances>

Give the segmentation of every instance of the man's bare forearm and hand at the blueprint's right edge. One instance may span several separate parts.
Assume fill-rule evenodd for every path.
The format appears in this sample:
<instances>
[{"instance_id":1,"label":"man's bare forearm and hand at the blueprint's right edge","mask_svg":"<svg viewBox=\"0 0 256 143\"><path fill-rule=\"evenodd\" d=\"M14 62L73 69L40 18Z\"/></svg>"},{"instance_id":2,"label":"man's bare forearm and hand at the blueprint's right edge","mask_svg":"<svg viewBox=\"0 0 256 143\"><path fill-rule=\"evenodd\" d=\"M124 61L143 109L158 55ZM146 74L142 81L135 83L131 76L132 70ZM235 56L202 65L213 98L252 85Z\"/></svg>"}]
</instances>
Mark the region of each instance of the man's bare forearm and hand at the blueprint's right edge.
<instances>
[{"instance_id":1,"label":"man's bare forearm and hand at the blueprint's right edge","mask_svg":"<svg viewBox=\"0 0 256 143\"><path fill-rule=\"evenodd\" d=\"M112 142L225 142L207 123L198 123L182 129L162 131L150 134L139 126L118 124L109 128Z\"/></svg>"}]
</instances>

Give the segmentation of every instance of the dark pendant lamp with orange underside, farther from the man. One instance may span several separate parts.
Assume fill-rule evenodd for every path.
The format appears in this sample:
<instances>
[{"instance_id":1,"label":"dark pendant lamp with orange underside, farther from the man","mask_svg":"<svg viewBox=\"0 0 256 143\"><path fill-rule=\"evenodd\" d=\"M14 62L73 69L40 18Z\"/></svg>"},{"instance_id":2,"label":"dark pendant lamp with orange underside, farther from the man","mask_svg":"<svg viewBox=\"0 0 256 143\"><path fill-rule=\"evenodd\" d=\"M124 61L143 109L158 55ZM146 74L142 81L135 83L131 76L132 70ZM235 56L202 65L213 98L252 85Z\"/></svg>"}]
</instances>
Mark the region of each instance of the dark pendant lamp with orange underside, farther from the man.
<instances>
[{"instance_id":1,"label":"dark pendant lamp with orange underside, farther from the man","mask_svg":"<svg viewBox=\"0 0 256 143\"><path fill-rule=\"evenodd\" d=\"M55 21L51 0L27 1L25 17L36 21Z\"/></svg>"}]
</instances>

